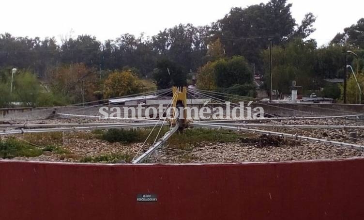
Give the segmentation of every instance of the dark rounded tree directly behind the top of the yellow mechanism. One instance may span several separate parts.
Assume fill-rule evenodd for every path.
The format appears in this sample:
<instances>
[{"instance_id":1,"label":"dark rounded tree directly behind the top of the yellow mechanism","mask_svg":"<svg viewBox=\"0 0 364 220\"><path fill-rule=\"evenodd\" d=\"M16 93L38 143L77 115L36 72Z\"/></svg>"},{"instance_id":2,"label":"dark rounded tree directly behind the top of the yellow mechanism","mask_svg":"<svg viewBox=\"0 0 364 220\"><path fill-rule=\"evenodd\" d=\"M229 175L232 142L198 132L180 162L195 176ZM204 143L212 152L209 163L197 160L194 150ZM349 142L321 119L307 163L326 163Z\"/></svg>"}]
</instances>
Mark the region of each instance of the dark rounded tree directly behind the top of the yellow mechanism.
<instances>
[{"instance_id":1,"label":"dark rounded tree directly behind the top of the yellow mechanism","mask_svg":"<svg viewBox=\"0 0 364 220\"><path fill-rule=\"evenodd\" d=\"M176 63L164 59L157 63L157 68L153 71L153 80L158 89L186 86L187 74Z\"/></svg>"}]
</instances>

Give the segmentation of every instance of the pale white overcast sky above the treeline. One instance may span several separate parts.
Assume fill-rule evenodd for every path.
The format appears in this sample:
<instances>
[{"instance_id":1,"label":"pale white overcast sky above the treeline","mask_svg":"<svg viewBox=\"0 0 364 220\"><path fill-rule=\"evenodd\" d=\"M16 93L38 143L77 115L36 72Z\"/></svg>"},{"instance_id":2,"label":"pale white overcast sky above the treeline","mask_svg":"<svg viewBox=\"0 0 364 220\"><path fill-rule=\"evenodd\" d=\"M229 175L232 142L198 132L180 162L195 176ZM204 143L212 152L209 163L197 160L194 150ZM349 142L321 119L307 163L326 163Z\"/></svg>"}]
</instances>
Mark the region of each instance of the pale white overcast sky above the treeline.
<instances>
[{"instance_id":1,"label":"pale white overcast sky above the treeline","mask_svg":"<svg viewBox=\"0 0 364 220\"><path fill-rule=\"evenodd\" d=\"M15 36L77 36L91 34L98 40L122 33L154 35L179 23L206 25L225 16L231 7L246 7L267 0L3 0L0 33ZM317 16L311 37L327 44L364 17L363 0L288 0L299 23L312 12ZM71 31L72 30L72 31Z\"/></svg>"}]
</instances>

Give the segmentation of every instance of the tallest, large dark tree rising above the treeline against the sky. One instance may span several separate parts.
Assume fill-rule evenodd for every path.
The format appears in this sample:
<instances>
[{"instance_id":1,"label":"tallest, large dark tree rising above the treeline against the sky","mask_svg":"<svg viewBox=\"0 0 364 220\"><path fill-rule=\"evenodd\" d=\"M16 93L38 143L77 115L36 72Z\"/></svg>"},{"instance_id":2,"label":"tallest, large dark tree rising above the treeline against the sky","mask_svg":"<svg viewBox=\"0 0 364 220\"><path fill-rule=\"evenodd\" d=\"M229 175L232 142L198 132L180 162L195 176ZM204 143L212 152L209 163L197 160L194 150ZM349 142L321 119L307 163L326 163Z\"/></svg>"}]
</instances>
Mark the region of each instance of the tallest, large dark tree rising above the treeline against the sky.
<instances>
[{"instance_id":1,"label":"tallest, large dark tree rising above the treeline against the sky","mask_svg":"<svg viewBox=\"0 0 364 220\"><path fill-rule=\"evenodd\" d=\"M301 25L291 16L287 0L271 0L267 4L232 8L224 18L212 25L215 37L220 37L227 56L242 55L263 70L261 51L268 48L269 38L274 45L283 45L291 38L305 38L314 31L315 16L307 14Z\"/></svg>"}]
</instances>

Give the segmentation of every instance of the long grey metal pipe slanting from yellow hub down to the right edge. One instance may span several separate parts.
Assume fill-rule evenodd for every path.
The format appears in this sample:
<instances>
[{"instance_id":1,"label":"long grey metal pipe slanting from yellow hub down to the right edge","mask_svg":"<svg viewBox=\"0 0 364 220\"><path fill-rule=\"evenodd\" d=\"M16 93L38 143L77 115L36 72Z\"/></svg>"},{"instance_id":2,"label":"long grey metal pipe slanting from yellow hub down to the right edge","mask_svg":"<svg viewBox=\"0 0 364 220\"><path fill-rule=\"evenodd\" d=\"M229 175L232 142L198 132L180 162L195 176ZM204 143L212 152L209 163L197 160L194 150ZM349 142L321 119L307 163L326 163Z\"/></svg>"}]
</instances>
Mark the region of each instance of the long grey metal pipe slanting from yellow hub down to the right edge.
<instances>
[{"instance_id":1,"label":"long grey metal pipe slanting from yellow hub down to the right edge","mask_svg":"<svg viewBox=\"0 0 364 220\"><path fill-rule=\"evenodd\" d=\"M246 128L246 127L219 126L219 125L211 125L211 124L203 124L203 123L196 124L194 126L207 127L207 128L223 128L223 129L229 129L229 130L236 129L236 130L242 130L242 131L248 131L248 132L256 132L256 133L265 134L265 135L273 135L273 136L277 136L277 137L287 137L287 138L301 139L303 141L312 141L312 142L323 142L323 143L351 147L351 148L361 149L361 150L364 149L364 146L358 145L358 144L339 142L339 141L329 141L326 139L311 138L311 137L306 137L306 136L302 136L302 135L298 135L298 134L287 134L287 133L282 133L282 132L265 131L265 130Z\"/></svg>"}]
</instances>

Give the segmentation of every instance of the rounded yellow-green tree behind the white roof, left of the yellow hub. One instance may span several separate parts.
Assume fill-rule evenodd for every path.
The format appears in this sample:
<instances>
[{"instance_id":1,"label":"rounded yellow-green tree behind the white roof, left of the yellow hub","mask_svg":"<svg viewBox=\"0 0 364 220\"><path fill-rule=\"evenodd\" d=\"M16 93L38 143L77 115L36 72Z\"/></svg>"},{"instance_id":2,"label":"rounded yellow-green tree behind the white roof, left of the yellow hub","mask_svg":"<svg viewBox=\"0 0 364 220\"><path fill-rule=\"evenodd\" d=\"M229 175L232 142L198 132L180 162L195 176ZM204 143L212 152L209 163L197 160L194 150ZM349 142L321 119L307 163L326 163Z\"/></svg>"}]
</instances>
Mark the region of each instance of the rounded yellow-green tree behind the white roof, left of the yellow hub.
<instances>
[{"instance_id":1,"label":"rounded yellow-green tree behind the white roof, left of the yellow hub","mask_svg":"<svg viewBox=\"0 0 364 220\"><path fill-rule=\"evenodd\" d=\"M104 97L120 97L141 92L141 83L131 71L114 72L104 83Z\"/></svg>"}]
</instances>

